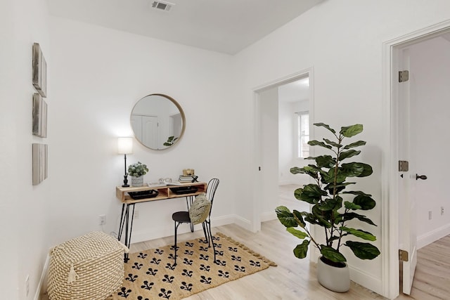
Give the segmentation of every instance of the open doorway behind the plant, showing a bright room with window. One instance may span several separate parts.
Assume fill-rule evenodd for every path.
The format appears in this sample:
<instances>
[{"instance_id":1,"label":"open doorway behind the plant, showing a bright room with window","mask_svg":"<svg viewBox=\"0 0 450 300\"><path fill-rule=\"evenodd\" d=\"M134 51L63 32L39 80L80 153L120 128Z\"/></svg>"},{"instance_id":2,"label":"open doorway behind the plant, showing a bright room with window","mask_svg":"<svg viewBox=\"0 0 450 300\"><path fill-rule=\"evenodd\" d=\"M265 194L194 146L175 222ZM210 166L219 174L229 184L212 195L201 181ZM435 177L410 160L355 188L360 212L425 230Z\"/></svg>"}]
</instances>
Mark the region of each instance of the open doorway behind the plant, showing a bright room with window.
<instances>
[{"instance_id":1,"label":"open doorway behind the plant, showing a bright room with window","mask_svg":"<svg viewBox=\"0 0 450 300\"><path fill-rule=\"evenodd\" d=\"M311 103L311 70L255 89L254 231L260 230L262 221L276 219L275 208L279 205L280 193L283 193L280 183L299 183L299 178L290 174L290 167L298 166L297 162L304 160L297 157L296 113L306 111L312 116ZM309 120L311 122L312 117Z\"/></svg>"}]
</instances>

